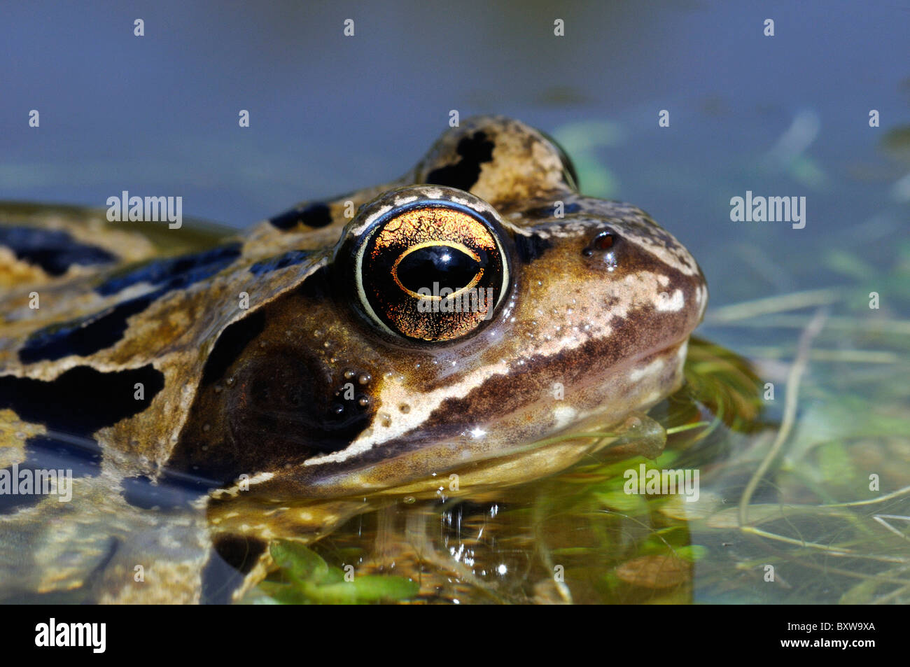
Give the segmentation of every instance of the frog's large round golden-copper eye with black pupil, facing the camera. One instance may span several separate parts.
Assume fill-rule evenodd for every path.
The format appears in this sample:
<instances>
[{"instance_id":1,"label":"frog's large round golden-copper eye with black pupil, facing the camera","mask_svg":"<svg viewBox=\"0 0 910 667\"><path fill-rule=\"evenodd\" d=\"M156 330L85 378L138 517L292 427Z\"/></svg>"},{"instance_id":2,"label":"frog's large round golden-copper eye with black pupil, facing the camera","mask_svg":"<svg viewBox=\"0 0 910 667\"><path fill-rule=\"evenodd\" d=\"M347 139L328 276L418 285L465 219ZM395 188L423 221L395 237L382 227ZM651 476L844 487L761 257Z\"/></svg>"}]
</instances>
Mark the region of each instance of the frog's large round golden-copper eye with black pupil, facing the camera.
<instances>
[{"instance_id":1,"label":"frog's large round golden-copper eye with black pupil, facing the camera","mask_svg":"<svg viewBox=\"0 0 910 667\"><path fill-rule=\"evenodd\" d=\"M469 201L467 193L460 196ZM465 336L492 316L508 286L501 238L495 220L450 200L392 207L356 249L361 308L381 328L407 339Z\"/></svg>"}]
</instances>

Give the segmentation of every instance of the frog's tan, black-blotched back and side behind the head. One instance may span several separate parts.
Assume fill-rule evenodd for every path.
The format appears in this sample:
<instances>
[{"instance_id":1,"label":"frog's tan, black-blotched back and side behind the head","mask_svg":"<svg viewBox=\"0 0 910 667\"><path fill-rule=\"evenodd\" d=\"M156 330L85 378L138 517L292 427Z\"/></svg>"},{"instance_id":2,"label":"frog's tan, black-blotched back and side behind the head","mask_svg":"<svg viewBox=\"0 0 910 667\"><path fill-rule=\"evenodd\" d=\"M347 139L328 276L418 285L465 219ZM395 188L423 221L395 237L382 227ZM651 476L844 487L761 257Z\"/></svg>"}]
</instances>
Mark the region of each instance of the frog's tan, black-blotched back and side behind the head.
<instances>
[{"instance_id":1,"label":"frog's tan, black-blotched back and side behind the head","mask_svg":"<svg viewBox=\"0 0 910 667\"><path fill-rule=\"evenodd\" d=\"M0 493L3 594L100 572L96 601L199 601L207 480L166 479L167 460L222 332L319 263L285 257L206 223L0 204L0 484L56 474ZM124 585L136 564L152 585Z\"/></svg>"}]
</instances>

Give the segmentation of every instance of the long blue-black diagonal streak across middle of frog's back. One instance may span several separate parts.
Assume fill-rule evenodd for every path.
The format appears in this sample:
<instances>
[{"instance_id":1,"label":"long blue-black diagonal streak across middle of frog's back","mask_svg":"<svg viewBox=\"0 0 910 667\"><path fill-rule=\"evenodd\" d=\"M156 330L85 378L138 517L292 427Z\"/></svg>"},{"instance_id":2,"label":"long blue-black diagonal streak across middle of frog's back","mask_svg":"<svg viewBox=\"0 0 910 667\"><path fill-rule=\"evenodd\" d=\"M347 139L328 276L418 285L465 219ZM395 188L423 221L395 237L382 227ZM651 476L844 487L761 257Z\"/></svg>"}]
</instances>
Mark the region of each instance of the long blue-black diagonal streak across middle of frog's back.
<instances>
[{"instance_id":1,"label":"long blue-black diagonal streak across middle of frog's back","mask_svg":"<svg viewBox=\"0 0 910 667\"><path fill-rule=\"evenodd\" d=\"M159 288L141 297L131 298L85 318L54 324L35 331L19 350L25 364L54 360L71 354L87 357L116 345L126 331L126 320L141 313L158 298L175 289L183 289L214 276L240 255L240 244L233 243L203 253L178 258L157 259L126 273L107 278L96 287L104 296L116 294L138 283L151 283Z\"/></svg>"}]
</instances>

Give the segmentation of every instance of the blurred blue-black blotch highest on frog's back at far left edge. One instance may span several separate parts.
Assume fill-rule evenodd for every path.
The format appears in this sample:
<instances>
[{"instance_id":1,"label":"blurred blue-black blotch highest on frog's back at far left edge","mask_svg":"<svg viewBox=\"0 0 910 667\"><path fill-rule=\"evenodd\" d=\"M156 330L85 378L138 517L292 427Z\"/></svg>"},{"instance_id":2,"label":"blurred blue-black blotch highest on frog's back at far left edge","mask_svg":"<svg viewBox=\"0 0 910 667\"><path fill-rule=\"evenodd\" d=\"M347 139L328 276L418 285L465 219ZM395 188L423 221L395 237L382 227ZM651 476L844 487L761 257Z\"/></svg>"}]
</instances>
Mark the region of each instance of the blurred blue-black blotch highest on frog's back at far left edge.
<instances>
[{"instance_id":1,"label":"blurred blue-black blotch highest on frog's back at far left edge","mask_svg":"<svg viewBox=\"0 0 910 667\"><path fill-rule=\"evenodd\" d=\"M16 258L43 268L49 276L62 276L73 264L87 266L116 261L104 248L79 243L59 229L0 225L0 246L11 249Z\"/></svg>"}]
</instances>

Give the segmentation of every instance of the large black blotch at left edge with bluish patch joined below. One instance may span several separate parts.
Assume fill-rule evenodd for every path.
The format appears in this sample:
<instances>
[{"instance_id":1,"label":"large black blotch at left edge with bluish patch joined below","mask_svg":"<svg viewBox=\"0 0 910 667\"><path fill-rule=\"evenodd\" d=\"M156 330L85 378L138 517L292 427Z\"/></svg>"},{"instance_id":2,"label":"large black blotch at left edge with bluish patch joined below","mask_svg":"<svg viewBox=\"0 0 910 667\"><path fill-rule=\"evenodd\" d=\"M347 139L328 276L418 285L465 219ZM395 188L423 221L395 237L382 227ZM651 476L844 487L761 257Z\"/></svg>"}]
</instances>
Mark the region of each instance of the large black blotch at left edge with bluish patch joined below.
<instances>
[{"instance_id":1,"label":"large black blotch at left edge with bluish patch joined below","mask_svg":"<svg viewBox=\"0 0 910 667\"><path fill-rule=\"evenodd\" d=\"M136 382L145 387L142 400L134 398ZM112 373L78 366L50 381L0 377L0 409L12 409L23 421L44 424L47 430L25 442L20 472L72 470L74 477L96 475L101 451L92 434L146 409L163 387L164 375L151 365ZM42 498L0 495L0 513Z\"/></svg>"}]
</instances>

